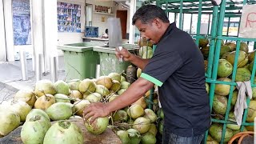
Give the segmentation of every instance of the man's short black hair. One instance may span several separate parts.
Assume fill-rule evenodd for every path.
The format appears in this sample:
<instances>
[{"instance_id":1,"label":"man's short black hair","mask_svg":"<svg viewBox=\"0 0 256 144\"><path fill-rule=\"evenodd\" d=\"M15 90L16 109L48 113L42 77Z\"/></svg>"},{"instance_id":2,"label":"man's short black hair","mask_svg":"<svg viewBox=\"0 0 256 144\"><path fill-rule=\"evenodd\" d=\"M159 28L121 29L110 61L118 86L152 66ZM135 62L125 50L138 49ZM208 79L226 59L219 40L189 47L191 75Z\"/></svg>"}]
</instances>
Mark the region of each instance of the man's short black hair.
<instances>
[{"instance_id":1,"label":"man's short black hair","mask_svg":"<svg viewBox=\"0 0 256 144\"><path fill-rule=\"evenodd\" d=\"M146 5L140 7L134 14L132 24L137 20L141 20L143 24L152 21L154 18L159 18L162 22L170 23L164 10L155 5Z\"/></svg>"}]
</instances>

